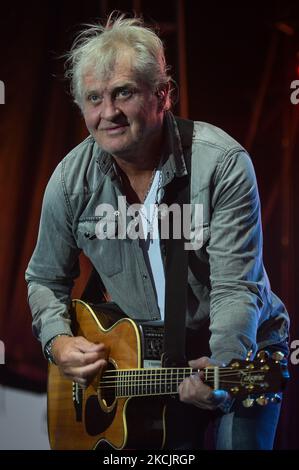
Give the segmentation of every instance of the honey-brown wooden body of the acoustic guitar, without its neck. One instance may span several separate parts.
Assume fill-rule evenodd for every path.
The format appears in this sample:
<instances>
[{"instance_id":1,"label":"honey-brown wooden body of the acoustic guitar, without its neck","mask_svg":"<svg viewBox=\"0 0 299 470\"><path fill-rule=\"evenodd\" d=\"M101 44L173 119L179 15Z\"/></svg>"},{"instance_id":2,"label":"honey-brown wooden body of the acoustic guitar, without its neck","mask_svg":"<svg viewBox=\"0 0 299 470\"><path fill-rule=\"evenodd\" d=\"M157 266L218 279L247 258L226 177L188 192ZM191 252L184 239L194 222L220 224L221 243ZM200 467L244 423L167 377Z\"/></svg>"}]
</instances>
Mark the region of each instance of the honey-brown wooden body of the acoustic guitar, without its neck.
<instances>
[{"instance_id":1,"label":"honey-brown wooden body of the acoustic guitar, without its neck","mask_svg":"<svg viewBox=\"0 0 299 470\"><path fill-rule=\"evenodd\" d=\"M115 312L73 302L72 331L109 350L108 369L143 367L137 324ZM162 448L165 402L159 397L125 397L100 391L99 377L83 390L49 365L48 432L52 449Z\"/></svg>"}]
</instances>

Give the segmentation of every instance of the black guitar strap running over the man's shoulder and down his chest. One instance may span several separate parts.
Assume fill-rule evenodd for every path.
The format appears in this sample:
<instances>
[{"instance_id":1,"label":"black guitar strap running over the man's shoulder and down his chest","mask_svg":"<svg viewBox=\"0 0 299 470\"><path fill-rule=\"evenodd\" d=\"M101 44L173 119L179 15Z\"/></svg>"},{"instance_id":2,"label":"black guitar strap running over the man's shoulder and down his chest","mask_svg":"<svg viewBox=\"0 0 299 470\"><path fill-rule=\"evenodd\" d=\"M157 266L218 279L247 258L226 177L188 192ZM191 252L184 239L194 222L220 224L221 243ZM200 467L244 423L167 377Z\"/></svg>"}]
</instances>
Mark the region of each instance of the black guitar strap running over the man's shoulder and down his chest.
<instances>
[{"instance_id":1,"label":"black guitar strap running over the man's shoulder and down his chest","mask_svg":"<svg viewBox=\"0 0 299 470\"><path fill-rule=\"evenodd\" d=\"M181 206L181 237L173 238L170 230L169 240L166 240L165 266L165 325L164 325L164 355L165 367L184 367L187 364L185 354L186 311L188 286L188 250L185 249L183 236L183 204L190 203L191 186L191 154L193 121L176 118L185 164L188 175L175 177L166 189L167 203L177 203ZM171 214L170 214L171 216ZM173 227L169 220L170 229Z\"/></svg>"}]
</instances>

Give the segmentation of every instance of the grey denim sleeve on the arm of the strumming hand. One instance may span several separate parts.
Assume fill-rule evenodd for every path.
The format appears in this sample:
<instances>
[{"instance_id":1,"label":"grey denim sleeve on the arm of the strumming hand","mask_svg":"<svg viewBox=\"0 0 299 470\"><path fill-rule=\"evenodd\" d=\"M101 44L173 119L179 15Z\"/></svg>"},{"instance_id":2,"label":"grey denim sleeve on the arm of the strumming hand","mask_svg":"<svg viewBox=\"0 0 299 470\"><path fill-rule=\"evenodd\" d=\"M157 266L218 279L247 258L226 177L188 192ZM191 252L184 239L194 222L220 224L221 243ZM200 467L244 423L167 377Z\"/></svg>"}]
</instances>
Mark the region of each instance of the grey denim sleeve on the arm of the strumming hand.
<instances>
[{"instance_id":1,"label":"grey denim sleeve on the arm of the strumming hand","mask_svg":"<svg viewBox=\"0 0 299 470\"><path fill-rule=\"evenodd\" d=\"M71 291L80 272L72 219L60 163L44 194L37 244L25 273L33 333L43 349L57 334L72 334Z\"/></svg>"}]
</instances>

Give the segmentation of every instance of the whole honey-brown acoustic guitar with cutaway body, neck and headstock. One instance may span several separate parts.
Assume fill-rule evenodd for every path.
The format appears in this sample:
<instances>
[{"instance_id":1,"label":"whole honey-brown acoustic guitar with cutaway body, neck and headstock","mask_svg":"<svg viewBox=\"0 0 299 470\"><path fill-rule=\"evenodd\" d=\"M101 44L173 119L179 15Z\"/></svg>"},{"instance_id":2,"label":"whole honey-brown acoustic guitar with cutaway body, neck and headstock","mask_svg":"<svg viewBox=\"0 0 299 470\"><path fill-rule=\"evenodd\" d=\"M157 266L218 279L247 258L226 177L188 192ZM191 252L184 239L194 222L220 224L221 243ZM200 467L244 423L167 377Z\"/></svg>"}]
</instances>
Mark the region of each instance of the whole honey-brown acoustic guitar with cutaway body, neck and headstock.
<instances>
[{"instance_id":1,"label":"whole honey-brown acoustic guitar with cutaway body, neck and headstock","mask_svg":"<svg viewBox=\"0 0 299 470\"><path fill-rule=\"evenodd\" d=\"M167 402L190 367L161 367L163 325L136 322L115 310L72 303L72 331L109 350L108 367L86 388L49 365L48 431L52 449L162 449L167 439ZM288 379L283 355L233 360L207 367L204 381L227 390L245 406L278 401ZM249 396L248 396L249 395ZM191 405L190 405L191 406Z\"/></svg>"}]
</instances>

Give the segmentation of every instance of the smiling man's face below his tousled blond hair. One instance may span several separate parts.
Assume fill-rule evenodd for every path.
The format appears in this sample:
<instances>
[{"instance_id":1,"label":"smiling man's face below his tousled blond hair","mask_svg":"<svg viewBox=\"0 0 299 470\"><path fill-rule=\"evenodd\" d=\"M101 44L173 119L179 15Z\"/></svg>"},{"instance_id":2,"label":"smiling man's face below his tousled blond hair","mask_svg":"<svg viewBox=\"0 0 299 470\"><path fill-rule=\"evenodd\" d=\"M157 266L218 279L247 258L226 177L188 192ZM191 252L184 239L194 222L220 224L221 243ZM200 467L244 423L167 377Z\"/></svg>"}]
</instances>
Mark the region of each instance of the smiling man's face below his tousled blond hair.
<instances>
[{"instance_id":1,"label":"smiling man's face below his tousled blond hair","mask_svg":"<svg viewBox=\"0 0 299 470\"><path fill-rule=\"evenodd\" d=\"M136 78L130 55L116 62L106 80L93 72L84 75L82 108L86 126L102 149L136 161L160 135L163 109L157 95Z\"/></svg>"}]
</instances>

